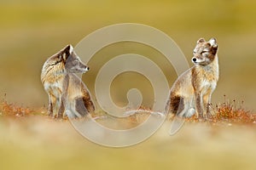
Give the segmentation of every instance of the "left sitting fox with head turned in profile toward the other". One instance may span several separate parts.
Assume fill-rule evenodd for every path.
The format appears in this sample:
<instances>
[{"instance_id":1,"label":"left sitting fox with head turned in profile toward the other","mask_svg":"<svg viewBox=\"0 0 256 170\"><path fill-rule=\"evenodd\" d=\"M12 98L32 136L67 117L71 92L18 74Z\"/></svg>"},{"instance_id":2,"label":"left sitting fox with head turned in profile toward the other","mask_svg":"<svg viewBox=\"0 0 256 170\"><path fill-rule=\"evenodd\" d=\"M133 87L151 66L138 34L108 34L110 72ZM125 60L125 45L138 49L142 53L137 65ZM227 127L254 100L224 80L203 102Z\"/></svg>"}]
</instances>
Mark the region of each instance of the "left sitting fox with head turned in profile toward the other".
<instances>
[{"instance_id":1,"label":"left sitting fox with head turned in profile toward the other","mask_svg":"<svg viewBox=\"0 0 256 170\"><path fill-rule=\"evenodd\" d=\"M49 96L49 116L64 117L65 107L74 113L70 115L72 117L82 117L95 110L87 88L75 75L86 71L89 67L79 59L72 45L67 45L45 61L41 81Z\"/></svg>"}]
</instances>

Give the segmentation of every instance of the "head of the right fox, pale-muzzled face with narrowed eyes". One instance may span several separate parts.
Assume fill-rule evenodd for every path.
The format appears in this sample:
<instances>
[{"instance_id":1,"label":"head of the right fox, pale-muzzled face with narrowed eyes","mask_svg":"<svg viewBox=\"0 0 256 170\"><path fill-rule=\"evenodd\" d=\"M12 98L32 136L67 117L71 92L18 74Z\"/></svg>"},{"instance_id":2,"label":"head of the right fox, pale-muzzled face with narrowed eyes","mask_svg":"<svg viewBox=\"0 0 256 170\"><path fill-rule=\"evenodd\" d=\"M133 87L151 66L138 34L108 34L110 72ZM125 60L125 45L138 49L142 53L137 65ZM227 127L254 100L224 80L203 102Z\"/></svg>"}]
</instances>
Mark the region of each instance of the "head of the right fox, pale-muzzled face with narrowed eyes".
<instances>
[{"instance_id":1,"label":"head of the right fox, pale-muzzled face with narrowed eyes","mask_svg":"<svg viewBox=\"0 0 256 170\"><path fill-rule=\"evenodd\" d=\"M209 65L215 59L218 51L218 44L215 38L211 38L208 42L204 38L200 38L193 52L192 62L195 65Z\"/></svg>"}]
</instances>

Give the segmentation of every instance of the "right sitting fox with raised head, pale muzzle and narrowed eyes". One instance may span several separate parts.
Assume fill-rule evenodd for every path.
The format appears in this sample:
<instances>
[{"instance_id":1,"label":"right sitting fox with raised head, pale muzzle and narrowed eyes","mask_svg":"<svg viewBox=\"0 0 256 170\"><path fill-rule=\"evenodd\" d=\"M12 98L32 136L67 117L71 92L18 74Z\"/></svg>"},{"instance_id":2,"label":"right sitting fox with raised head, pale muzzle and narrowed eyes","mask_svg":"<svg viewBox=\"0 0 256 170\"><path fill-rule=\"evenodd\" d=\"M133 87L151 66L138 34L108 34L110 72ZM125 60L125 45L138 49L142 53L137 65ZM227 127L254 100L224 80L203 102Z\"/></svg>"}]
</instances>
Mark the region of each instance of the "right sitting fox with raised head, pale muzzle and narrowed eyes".
<instances>
[{"instance_id":1,"label":"right sitting fox with raised head, pale muzzle and narrowed eyes","mask_svg":"<svg viewBox=\"0 0 256 170\"><path fill-rule=\"evenodd\" d=\"M218 82L218 44L215 38L208 42L200 38L194 49L194 66L174 82L167 107L177 116L200 119L211 116L209 111L212 92Z\"/></svg>"}]
</instances>

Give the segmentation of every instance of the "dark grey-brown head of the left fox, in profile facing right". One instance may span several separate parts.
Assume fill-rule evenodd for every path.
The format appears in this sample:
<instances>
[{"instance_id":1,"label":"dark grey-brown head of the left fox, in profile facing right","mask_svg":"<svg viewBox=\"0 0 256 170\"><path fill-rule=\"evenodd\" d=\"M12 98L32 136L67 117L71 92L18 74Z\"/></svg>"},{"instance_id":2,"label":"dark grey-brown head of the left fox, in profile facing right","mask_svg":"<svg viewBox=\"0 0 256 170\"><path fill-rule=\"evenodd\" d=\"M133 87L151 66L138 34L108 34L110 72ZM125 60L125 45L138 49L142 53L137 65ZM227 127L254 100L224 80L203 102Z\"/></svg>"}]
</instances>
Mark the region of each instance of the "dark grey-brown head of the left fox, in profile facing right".
<instances>
[{"instance_id":1,"label":"dark grey-brown head of the left fox, in profile facing right","mask_svg":"<svg viewBox=\"0 0 256 170\"><path fill-rule=\"evenodd\" d=\"M79 56L74 52L72 45L67 45L59 54L59 59L64 63L67 73L84 73L89 67L84 65Z\"/></svg>"}]
</instances>

